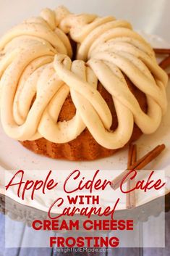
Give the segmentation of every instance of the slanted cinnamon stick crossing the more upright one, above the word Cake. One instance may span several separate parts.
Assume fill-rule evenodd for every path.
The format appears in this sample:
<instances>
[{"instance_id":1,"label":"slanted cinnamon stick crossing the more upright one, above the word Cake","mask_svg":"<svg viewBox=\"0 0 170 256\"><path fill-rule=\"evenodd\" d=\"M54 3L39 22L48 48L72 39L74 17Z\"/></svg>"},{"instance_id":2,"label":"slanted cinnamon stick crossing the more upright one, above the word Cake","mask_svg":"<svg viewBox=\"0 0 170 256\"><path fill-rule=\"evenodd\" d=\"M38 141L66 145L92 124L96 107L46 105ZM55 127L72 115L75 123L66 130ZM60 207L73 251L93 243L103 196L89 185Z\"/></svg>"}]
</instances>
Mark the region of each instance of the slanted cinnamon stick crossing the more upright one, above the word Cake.
<instances>
[{"instance_id":1,"label":"slanted cinnamon stick crossing the more upright one, above the word Cake","mask_svg":"<svg viewBox=\"0 0 170 256\"><path fill-rule=\"evenodd\" d=\"M153 150L148 152L148 154L145 154L144 157L140 158L140 160L137 160L135 163L133 163L129 170L141 170L143 169L148 163L150 163L152 160L154 160L156 157L158 157L159 154L165 149L165 145L158 145ZM129 173L129 170L124 170L123 173L121 173L119 176L117 176L113 181L111 181L111 187L112 189L116 190L119 188L120 184L122 183L122 179L124 176ZM125 182L125 181L124 181Z\"/></svg>"}]
</instances>

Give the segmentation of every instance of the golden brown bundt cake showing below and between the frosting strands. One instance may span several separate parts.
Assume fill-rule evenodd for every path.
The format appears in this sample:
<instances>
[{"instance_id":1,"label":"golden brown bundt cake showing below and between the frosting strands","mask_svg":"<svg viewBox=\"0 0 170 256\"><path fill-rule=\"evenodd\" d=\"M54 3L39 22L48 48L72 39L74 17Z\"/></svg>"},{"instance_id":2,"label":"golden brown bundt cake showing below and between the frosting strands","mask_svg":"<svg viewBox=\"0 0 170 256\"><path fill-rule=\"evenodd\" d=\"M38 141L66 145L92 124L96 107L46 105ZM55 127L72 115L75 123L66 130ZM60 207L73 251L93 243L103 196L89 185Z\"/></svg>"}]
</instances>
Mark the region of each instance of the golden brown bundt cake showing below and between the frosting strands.
<instances>
[{"instance_id":1,"label":"golden brown bundt cake showing below and between the frosting strands","mask_svg":"<svg viewBox=\"0 0 170 256\"><path fill-rule=\"evenodd\" d=\"M147 102L145 94L143 94L142 91L137 89L127 77L125 78L127 80L129 89L132 91L132 94L135 95L137 101L140 104L141 109L144 112L147 112ZM114 131L118 125L118 122L113 99L111 98L111 95L108 93L108 91L106 91L106 89L103 88L101 83L98 83L98 91L101 93L103 99L105 99L106 103L109 106L109 109L111 110L111 115L113 117L111 131ZM72 103L71 96L69 95L61 109L59 121L72 119L72 117L75 115L75 111L75 106ZM138 128L137 125L134 125L132 137L128 141L128 144L131 141L139 139L141 135L142 132L140 131L140 128ZM119 150L106 149L100 144L98 144L95 141L95 139L93 139L93 136L88 131L88 128L85 128L85 130L80 134L80 136L77 136L76 139L64 144L56 144L43 138L35 141L21 141L21 143L27 149L30 149L31 151L37 154L43 154L46 155L47 157L52 157L56 159L74 161L95 160L98 158L109 157Z\"/></svg>"}]
</instances>

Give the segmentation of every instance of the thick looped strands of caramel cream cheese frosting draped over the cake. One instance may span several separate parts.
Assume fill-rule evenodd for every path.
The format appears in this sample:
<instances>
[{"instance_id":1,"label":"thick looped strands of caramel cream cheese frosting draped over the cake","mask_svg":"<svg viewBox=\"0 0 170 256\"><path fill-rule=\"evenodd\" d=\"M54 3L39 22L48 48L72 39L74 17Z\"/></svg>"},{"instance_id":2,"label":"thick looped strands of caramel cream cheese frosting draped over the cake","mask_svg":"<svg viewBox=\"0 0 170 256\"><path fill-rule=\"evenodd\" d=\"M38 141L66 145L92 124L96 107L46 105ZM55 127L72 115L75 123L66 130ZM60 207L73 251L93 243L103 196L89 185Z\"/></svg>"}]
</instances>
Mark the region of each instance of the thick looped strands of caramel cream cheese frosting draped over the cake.
<instances>
[{"instance_id":1,"label":"thick looped strands of caramel cream cheese frosting draped over the cake","mask_svg":"<svg viewBox=\"0 0 170 256\"><path fill-rule=\"evenodd\" d=\"M74 61L69 37L77 43ZM123 74L145 93L147 114ZM43 9L40 17L1 38L0 78L1 123L8 136L20 141L43 137L65 143L87 127L98 144L117 149L129 141L134 123L143 133L153 133L166 111L168 77L153 49L129 22L110 16ZM114 100L116 131L110 130L114 120L97 91L98 80ZM69 93L75 117L59 122Z\"/></svg>"}]
</instances>

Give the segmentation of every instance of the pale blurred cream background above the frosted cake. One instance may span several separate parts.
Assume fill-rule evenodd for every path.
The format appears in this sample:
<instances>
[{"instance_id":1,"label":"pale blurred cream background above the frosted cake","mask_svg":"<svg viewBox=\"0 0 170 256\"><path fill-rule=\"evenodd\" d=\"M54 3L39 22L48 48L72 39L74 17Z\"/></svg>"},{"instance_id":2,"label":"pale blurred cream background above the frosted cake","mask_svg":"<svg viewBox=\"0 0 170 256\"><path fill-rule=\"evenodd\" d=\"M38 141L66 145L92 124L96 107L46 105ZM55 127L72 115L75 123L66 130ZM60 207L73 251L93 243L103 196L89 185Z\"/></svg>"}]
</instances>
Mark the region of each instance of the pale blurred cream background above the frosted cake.
<instances>
[{"instance_id":1,"label":"pale blurred cream background above the frosted cake","mask_svg":"<svg viewBox=\"0 0 170 256\"><path fill-rule=\"evenodd\" d=\"M170 41L169 0L0 0L0 34L8 28L38 15L43 7L65 5L71 12L93 12L113 15L132 22L135 29L154 33Z\"/></svg>"}]
</instances>

